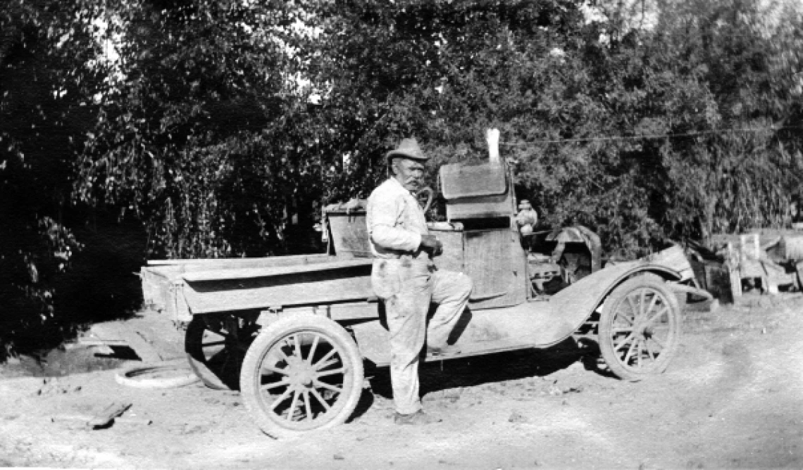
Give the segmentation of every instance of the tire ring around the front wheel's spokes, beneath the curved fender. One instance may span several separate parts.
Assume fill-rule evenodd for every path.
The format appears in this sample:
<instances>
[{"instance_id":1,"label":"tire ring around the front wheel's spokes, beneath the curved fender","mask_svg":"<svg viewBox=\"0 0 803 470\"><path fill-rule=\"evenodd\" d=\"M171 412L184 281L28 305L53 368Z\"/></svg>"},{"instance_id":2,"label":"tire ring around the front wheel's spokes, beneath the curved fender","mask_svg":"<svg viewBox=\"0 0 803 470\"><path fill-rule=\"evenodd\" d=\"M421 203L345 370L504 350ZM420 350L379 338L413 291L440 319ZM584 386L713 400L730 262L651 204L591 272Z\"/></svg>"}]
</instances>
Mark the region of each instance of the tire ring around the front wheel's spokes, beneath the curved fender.
<instances>
[{"instance_id":1,"label":"tire ring around the front wheel's spokes, beneath the curved fender","mask_svg":"<svg viewBox=\"0 0 803 470\"><path fill-rule=\"evenodd\" d=\"M654 367L651 367L646 372L635 372L629 367L622 365L619 360L618 354L613 350L613 315L616 312L619 304L625 300L626 296L642 287L649 287L656 290L666 300L669 305L669 315L671 321L674 321L675 329L670 332L669 344L662 350L661 355L658 357L658 362ZM666 283L653 276L636 276L623 282L605 299L605 305L602 307L599 322L599 334L597 342L600 346L602 359L608 365L609 370L613 372L620 379L637 382L642 379L648 379L652 375L662 374L669 367L675 353L680 344L680 337L682 333L683 316L678 305L678 299L675 293L672 292Z\"/></svg>"}]
</instances>

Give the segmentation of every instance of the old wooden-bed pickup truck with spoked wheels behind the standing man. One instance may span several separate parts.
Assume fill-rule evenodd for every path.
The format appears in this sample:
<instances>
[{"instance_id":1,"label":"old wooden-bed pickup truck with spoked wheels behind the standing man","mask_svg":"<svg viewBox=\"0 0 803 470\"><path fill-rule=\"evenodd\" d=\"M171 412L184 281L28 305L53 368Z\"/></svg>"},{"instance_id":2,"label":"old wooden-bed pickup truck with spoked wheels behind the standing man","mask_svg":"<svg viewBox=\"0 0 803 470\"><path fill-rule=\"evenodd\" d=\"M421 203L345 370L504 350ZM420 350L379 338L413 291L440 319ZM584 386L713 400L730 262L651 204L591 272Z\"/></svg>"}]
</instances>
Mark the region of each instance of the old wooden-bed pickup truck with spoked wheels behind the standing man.
<instances>
[{"instance_id":1,"label":"old wooden-bed pickup truck with spoked wheels behind the standing man","mask_svg":"<svg viewBox=\"0 0 803 470\"><path fill-rule=\"evenodd\" d=\"M581 331L622 379L666 369L681 334L685 258L603 267L589 229L522 231L504 161L443 165L438 187L446 221L430 223L444 244L436 264L467 273L475 289L455 334L459 352L426 360L546 348ZM360 201L332 205L325 219L327 253L149 261L141 271L145 301L189 322L194 371L210 387L238 387L274 437L343 423L361 396L365 365L390 361L365 209Z\"/></svg>"}]
</instances>

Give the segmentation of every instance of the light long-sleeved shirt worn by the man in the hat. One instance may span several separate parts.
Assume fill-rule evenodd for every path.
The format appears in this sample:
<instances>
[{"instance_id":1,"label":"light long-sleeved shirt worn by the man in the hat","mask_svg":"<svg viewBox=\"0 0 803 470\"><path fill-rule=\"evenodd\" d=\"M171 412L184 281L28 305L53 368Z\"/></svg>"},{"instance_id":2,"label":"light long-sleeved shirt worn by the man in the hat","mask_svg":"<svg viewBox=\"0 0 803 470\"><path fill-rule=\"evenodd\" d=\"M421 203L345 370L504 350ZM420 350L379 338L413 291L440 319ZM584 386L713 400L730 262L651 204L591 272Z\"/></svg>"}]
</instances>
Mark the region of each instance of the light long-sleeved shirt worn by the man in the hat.
<instances>
[{"instance_id":1,"label":"light long-sleeved shirt worn by the man in the hat","mask_svg":"<svg viewBox=\"0 0 803 470\"><path fill-rule=\"evenodd\" d=\"M391 177L371 192L365 217L371 253L379 258L417 254L426 217L415 197Z\"/></svg>"}]
</instances>

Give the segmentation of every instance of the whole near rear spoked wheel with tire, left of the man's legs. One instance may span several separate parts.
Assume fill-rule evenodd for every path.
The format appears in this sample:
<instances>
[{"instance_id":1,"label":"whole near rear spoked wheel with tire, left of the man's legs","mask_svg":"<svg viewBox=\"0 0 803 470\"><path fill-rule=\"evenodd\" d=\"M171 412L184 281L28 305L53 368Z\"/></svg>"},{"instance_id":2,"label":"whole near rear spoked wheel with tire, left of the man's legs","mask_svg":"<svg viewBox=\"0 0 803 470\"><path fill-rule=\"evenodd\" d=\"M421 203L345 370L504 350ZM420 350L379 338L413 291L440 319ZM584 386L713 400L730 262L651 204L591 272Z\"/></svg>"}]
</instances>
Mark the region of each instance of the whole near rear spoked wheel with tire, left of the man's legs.
<instances>
[{"instance_id":1,"label":"whole near rear spoked wheel with tire, left of the man's legs","mask_svg":"<svg viewBox=\"0 0 803 470\"><path fill-rule=\"evenodd\" d=\"M254 340L240 392L263 432L279 438L344 423L362 383L362 357L346 330L300 314L271 323Z\"/></svg>"}]
</instances>

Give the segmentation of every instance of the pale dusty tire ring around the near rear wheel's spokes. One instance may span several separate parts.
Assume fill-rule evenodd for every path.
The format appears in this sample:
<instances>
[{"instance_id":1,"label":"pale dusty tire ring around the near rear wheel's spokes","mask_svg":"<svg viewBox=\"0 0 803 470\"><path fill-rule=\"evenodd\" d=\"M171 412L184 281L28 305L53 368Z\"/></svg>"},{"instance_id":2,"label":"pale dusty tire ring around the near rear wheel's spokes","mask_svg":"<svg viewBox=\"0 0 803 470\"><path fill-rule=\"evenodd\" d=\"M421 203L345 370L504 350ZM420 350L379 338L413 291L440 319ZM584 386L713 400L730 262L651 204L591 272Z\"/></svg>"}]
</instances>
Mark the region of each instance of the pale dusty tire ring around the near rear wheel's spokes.
<instances>
[{"instance_id":1,"label":"pale dusty tire ring around the near rear wheel's spokes","mask_svg":"<svg viewBox=\"0 0 803 470\"><path fill-rule=\"evenodd\" d=\"M297 431L279 426L267 415L267 411L263 410L262 399L259 398L260 368L264 355L267 354L275 342L287 336L287 334L305 330L326 334L333 342L336 342L343 352L343 360L349 361L354 374L351 393L346 397L346 401L340 411L337 412L337 415L320 427L315 427L308 431ZM251 343L251 347L248 348L246 353L246 358L243 359L243 368L240 372L240 395L243 398L243 405L245 405L246 410L265 434L274 439L297 437L304 435L305 432L338 426L344 423L346 419L349 419L357 407L357 402L360 401L364 378L365 371L360 350L357 348L357 343L354 342L351 335L342 326L320 315L294 314L286 318L279 318L276 322L271 323Z\"/></svg>"}]
</instances>

